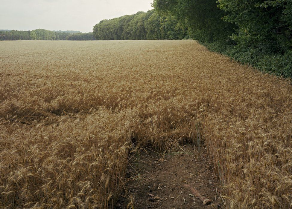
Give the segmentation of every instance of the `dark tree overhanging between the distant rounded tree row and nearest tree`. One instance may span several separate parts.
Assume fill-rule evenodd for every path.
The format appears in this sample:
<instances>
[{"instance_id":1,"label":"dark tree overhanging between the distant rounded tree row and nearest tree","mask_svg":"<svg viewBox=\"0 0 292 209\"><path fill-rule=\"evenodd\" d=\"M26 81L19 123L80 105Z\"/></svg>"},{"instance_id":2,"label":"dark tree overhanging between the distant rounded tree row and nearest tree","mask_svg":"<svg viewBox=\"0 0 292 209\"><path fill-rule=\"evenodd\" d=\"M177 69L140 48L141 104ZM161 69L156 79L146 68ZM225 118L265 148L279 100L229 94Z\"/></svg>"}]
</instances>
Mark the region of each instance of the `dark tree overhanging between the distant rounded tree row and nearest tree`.
<instances>
[{"instance_id":1,"label":"dark tree overhanging between the distant rounded tree row and nearest tree","mask_svg":"<svg viewBox=\"0 0 292 209\"><path fill-rule=\"evenodd\" d=\"M228 41L232 24L221 17L224 11L217 7L216 0L155 0L153 6L159 14L171 14L184 23L193 39L202 42Z\"/></svg>"}]
</instances>

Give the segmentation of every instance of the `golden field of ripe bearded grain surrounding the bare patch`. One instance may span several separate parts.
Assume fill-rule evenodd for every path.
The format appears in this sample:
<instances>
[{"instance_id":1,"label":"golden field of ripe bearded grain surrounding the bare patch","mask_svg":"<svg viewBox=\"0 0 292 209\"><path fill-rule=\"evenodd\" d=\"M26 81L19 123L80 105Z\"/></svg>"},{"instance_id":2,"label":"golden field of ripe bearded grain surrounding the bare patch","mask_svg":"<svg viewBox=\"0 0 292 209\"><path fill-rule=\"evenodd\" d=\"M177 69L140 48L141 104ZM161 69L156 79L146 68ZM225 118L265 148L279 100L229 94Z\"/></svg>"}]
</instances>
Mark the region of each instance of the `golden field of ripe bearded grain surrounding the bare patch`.
<instances>
[{"instance_id":1,"label":"golden field of ripe bearded grain surrounding the bare patch","mask_svg":"<svg viewBox=\"0 0 292 209\"><path fill-rule=\"evenodd\" d=\"M115 208L198 131L224 207L292 207L291 82L192 40L0 42L0 130L0 208Z\"/></svg>"}]
</instances>

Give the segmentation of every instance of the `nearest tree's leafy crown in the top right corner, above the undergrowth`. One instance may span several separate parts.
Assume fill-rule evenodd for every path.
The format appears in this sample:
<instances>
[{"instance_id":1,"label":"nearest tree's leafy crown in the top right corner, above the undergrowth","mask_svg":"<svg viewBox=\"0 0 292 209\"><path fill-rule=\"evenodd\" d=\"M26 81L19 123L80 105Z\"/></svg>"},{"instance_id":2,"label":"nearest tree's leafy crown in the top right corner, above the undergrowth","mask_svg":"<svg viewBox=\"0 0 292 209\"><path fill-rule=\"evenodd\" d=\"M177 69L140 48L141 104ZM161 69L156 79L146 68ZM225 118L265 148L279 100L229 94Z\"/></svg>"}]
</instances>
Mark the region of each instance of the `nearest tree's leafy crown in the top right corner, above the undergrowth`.
<instances>
[{"instance_id":1,"label":"nearest tree's leafy crown in the top right corner, above the undergrowth","mask_svg":"<svg viewBox=\"0 0 292 209\"><path fill-rule=\"evenodd\" d=\"M242 48L260 47L267 52L285 52L292 47L292 1L219 0L228 15L225 21L236 25L232 39Z\"/></svg>"}]
</instances>

